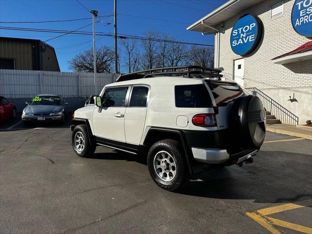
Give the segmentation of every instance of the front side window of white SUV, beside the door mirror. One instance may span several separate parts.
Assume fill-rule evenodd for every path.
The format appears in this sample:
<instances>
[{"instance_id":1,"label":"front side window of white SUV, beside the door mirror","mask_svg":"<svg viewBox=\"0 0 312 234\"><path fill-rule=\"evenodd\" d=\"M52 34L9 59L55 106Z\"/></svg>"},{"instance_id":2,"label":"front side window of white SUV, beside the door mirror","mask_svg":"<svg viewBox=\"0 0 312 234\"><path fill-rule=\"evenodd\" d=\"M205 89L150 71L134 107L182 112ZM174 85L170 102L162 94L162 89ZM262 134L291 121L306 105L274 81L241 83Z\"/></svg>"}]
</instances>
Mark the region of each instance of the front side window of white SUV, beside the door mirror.
<instances>
[{"instance_id":1,"label":"front side window of white SUV, beside the door mirror","mask_svg":"<svg viewBox=\"0 0 312 234\"><path fill-rule=\"evenodd\" d=\"M128 86L106 88L102 97L102 106L124 106Z\"/></svg>"}]
</instances>

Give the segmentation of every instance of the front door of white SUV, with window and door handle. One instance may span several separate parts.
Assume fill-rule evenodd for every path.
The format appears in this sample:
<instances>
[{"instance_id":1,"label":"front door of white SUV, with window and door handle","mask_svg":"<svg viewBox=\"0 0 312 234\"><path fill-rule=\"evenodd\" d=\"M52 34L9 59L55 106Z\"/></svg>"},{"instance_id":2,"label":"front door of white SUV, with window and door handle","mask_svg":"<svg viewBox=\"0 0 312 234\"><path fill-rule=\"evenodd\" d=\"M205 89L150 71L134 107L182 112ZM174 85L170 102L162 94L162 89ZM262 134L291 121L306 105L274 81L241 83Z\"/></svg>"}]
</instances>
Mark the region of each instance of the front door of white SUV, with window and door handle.
<instances>
[{"instance_id":1,"label":"front door of white SUV, with window and door handle","mask_svg":"<svg viewBox=\"0 0 312 234\"><path fill-rule=\"evenodd\" d=\"M125 111L129 86L107 87L101 97L102 107L93 112L93 131L96 137L125 142Z\"/></svg>"}]
</instances>

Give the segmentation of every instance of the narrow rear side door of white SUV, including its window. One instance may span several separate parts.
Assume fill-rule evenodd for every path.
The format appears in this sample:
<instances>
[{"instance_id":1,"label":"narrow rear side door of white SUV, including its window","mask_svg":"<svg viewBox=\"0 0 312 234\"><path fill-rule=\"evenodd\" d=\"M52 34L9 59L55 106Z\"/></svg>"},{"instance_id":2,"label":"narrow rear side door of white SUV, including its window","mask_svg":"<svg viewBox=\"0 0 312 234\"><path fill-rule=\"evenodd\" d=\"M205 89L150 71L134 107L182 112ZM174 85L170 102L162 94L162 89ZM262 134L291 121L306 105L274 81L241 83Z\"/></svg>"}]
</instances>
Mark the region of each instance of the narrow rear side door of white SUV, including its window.
<instances>
[{"instance_id":1,"label":"narrow rear side door of white SUV, including its window","mask_svg":"<svg viewBox=\"0 0 312 234\"><path fill-rule=\"evenodd\" d=\"M139 144L145 125L150 86L133 85L125 113L126 142Z\"/></svg>"}]
</instances>

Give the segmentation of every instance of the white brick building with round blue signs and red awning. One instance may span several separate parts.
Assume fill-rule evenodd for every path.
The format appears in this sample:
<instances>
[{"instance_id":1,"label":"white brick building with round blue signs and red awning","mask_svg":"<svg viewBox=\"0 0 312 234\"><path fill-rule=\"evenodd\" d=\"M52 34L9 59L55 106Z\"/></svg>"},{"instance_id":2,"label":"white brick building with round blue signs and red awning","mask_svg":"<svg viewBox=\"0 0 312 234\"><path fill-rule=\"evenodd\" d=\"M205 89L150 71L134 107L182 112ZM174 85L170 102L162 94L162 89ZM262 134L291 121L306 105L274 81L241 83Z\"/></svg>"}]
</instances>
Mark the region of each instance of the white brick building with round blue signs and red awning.
<instances>
[{"instance_id":1,"label":"white brick building with round blue signs and red awning","mask_svg":"<svg viewBox=\"0 0 312 234\"><path fill-rule=\"evenodd\" d=\"M215 67L261 96L268 118L312 119L312 0L229 0L187 30L215 34Z\"/></svg>"}]
</instances>

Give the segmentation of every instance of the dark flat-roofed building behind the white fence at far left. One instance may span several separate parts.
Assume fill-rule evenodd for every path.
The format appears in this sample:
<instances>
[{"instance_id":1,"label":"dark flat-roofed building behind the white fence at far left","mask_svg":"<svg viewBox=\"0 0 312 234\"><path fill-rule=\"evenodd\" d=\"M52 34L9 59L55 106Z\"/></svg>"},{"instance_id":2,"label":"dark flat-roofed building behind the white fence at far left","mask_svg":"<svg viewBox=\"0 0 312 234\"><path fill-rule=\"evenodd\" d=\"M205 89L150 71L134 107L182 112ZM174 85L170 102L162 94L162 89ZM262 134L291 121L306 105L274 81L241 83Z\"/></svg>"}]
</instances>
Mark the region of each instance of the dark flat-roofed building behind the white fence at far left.
<instances>
[{"instance_id":1,"label":"dark flat-roofed building behind the white fence at far left","mask_svg":"<svg viewBox=\"0 0 312 234\"><path fill-rule=\"evenodd\" d=\"M59 72L54 48L41 40L0 37L0 69Z\"/></svg>"}]
</instances>

